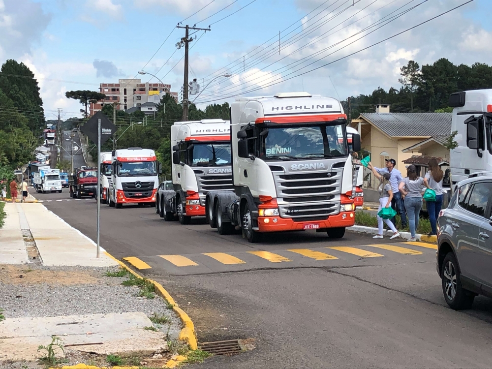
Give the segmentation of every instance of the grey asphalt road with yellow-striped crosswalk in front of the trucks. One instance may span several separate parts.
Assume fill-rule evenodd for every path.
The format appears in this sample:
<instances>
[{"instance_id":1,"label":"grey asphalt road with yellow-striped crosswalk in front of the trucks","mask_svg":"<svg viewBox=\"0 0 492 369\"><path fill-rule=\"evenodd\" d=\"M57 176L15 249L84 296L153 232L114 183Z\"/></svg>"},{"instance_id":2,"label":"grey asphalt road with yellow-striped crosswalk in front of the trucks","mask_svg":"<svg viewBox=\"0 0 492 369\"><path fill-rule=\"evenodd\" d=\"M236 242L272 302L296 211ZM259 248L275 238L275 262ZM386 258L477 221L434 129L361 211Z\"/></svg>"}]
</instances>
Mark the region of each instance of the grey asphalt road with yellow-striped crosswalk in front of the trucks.
<instances>
[{"instance_id":1,"label":"grey asphalt road with yellow-striped crosswalk in front of the trucks","mask_svg":"<svg viewBox=\"0 0 492 369\"><path fill-rule=\"evenodd\" d=\"M70 199L66 189L37 197L95 240L94 199ZM252 351L196 368L492 365L491 301L478 297L463 312L448 308L433 248L354 233L330 240L313 231L251 245L241 235L218 235L201 219L166 223L154 208L136 206L101 205L101 230L102 247L136 258L125 261L147 268L139 273L171 293L199 341L255 339Z\"/></svg>"}]
</instances>

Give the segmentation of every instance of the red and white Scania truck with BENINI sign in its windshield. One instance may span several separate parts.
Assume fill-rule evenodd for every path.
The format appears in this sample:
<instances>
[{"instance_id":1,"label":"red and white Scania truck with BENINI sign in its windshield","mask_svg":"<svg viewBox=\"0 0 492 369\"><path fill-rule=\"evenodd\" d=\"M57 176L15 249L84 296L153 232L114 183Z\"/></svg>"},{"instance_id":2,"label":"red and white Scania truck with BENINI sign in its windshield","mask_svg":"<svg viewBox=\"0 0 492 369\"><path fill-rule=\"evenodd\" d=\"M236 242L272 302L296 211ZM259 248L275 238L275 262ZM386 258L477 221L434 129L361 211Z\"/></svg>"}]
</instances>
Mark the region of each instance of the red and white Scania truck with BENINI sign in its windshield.
<instances>
[{"instance_id":1,"label":"red and white Scania truck with BENINI sign in its windshield","mask_svg":"<svg viewBox=\"0 0 492 369\"><path fill-rule=\"evenodd\" d=\"M209 191L220 234L315 229L340 238L355 223L354 166L338 100L306 92L238 98L231 105L233 191ZM340 139L341 138L341 139ZM360 151L352 135L352 150Z\"/></svg>"}]
</instances>

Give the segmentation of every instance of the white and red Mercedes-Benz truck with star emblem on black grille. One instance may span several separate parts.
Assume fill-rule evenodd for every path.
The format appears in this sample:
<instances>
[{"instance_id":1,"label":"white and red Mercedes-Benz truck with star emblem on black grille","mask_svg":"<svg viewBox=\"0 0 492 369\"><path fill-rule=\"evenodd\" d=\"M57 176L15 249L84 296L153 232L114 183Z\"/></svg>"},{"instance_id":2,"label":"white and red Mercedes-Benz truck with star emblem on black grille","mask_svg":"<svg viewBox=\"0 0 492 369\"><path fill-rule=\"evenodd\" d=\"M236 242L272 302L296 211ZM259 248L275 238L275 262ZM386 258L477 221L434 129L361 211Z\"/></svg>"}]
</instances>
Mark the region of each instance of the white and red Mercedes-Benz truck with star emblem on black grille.
<instances>
[{"instance_id":1,"label":"white and red Mercedes-Benz truck with star emblem on black grille","mask_svg":"<svg viewBox=\"0 0 492 369\"><path fill-rule=\"evenodd\" d=\"M112 152L109 201L111 207L123 204L154 205L159 185L160 164L154 150L119 149Z\"/></svg>"}]
</instances>

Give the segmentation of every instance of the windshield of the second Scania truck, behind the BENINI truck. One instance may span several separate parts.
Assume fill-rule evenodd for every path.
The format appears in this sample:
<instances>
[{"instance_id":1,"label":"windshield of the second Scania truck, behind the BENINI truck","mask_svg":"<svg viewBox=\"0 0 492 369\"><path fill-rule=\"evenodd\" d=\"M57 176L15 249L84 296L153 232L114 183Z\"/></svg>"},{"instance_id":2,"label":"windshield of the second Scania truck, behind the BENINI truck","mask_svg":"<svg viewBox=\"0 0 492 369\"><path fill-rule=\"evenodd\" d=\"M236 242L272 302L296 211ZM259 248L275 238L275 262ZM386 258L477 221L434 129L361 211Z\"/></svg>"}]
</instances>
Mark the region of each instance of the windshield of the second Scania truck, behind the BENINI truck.
<instances>
[{"instance_id":1,"label":"windshield of the second Scania truck, behind the BENINI truck","mask_svg":"<svg viewBox=\"0 0 492 369\"><path fill-rule=\"evenodd\" d=\"M191 166L231 165L231 145L229 143L193 143L189 146Z\"/></svg>"}]
</instances>

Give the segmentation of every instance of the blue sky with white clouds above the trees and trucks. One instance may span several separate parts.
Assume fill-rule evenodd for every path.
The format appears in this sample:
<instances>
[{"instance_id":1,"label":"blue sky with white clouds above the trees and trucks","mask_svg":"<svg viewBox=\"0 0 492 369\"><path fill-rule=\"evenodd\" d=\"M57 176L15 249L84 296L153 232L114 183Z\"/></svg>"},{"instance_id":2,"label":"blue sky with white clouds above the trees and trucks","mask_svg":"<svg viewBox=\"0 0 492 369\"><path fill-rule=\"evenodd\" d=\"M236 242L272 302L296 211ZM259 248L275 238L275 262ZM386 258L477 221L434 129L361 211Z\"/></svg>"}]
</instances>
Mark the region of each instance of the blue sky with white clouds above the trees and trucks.
<instances>
[{"instance_id":1,"label":"blue sky with white clouds above the trees and trucks","mask_svg":"<svg viewBox=\"0 0 492 369\"><path fill-rule=\"evenodd\" d=\"M81 106L66 91L149 81L139 70L181 92L184 50L176 44L184 30L176 26L210 26L190 42L189 78L202 87L190 99L199 108L294 91L343 100L399 88L409 60L490 65L492 0L467 1L0 0L0 62L26 63L46 118L62 108L67 119Z\"/></svg>"}]
</instances>

